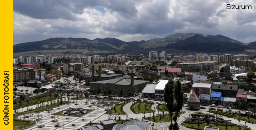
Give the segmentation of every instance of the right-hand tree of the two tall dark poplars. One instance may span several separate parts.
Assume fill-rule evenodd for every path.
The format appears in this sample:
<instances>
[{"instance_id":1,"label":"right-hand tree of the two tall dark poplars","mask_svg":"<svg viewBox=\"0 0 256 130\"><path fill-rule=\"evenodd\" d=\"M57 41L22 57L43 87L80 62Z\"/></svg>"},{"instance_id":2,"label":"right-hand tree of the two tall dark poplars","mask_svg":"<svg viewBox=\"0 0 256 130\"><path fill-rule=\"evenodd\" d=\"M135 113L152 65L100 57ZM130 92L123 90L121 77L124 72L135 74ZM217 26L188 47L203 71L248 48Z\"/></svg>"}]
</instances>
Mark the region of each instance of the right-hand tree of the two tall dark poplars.
<instances>
[{"instance_id":1,"label":"right-hand tree of the two tall dark poplars","mask_svg":"<svg viewBox=\"0 0 256 130\"><path fill-rule=\"evenodd\" d=\"M184 92L182 91L181 82L178 80L175 84L174 99L176 101L174 121L176 123L180 109L182 109ZM178 130L178 129L174 129Z\"/></svg>"}]
</instances>

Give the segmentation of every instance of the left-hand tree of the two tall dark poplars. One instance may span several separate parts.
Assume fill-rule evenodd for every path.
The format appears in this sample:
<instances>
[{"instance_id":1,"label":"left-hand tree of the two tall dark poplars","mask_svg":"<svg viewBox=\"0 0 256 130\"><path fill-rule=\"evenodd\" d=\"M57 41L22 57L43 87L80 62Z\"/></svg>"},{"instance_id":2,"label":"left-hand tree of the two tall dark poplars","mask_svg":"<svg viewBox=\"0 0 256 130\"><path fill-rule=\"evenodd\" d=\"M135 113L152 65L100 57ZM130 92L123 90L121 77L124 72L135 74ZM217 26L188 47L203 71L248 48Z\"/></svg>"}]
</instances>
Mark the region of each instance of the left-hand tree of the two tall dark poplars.
<instances>
[{"instance_id":1,"label":"left-hand tree of the two tall dark poplars","mask_svg":"<svg viewBox=\"0 0 256 130\"><path fill-rule=\"evenodd\" d=\"M166 107L170 113L171 125L169 130L172 130L172 112L174 112L174 81L169 80L164 87L164 100L167 103Z\"/></svg>"}]
</instances>

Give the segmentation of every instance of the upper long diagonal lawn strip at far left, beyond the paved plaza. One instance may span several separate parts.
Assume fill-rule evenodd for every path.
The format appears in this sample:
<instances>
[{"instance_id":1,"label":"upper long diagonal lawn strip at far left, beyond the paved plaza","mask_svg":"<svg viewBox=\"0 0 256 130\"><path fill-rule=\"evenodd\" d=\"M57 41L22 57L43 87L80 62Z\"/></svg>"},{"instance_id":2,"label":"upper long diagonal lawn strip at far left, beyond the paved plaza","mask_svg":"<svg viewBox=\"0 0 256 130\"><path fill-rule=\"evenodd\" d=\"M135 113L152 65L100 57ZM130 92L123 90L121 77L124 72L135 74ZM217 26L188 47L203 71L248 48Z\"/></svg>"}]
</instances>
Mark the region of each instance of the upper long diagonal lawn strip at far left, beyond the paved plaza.
<instances>
[{"instance_id":1,"label":"upper long diagonal lawn strip at far left, beyond the paved plaza","mask_svg":"<svg viewBox=\"0 0 256 130\"><path fill-rule=\"evenodd\" d=\"M60 97L60 98L63 98L63 97ZM40 101L42 100L42 101L44 101L44 102L46 102L46 101L51 101L51 100L55 100L55 99L57 99L57 97L53 97L53 96L46 96L46 97L41 97L39 100L38 100L38 98L37 99L33 99L33 100L30 100L30 101L28 101L28 102L26 102L26 101L24 101L23 103L17 103L17 104L13 104L13 109L15 109L15 108L24 108L24 107L26 107L26 106L31 106L31 105L36 105L37 103L40 103Z\"/></svg>"}]
</instances>

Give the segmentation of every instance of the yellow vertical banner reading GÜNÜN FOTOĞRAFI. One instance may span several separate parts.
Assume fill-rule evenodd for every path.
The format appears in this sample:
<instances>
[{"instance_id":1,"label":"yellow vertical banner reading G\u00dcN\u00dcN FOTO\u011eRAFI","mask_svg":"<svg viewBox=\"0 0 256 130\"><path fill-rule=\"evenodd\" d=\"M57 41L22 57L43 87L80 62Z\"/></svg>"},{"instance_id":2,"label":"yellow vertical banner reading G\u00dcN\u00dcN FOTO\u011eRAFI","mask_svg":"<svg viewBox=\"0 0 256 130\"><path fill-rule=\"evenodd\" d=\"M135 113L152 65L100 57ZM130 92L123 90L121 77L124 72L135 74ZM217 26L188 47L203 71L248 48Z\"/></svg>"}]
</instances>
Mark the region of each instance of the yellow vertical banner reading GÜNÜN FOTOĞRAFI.
<instances>
[{"instance_id":1,"label":"yellow vertical banner reading G\u00dcN\u00dcN FOTO\u011eRAFI","mask_svg":"<svg viewBox=\"0 0 256 130\"><path fill-rule=\"evenodd\" d=\"M1 129L13 129L13 1L1 1L0 108Z\"/></svg>"}]
</instances>

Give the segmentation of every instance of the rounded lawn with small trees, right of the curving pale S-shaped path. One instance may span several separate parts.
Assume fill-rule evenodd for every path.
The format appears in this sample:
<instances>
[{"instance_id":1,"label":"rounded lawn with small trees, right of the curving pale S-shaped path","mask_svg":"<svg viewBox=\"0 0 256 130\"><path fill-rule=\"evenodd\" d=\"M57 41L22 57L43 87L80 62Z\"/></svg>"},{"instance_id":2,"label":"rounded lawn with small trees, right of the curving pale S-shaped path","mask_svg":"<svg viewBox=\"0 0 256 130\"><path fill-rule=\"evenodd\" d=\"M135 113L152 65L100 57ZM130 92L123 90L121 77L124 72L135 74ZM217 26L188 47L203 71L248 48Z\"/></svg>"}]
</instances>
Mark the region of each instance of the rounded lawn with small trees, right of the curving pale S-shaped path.
<instances>
[{"instance_id":1,"label":"rounded lawn with small trees, right of the curving pale S-shaped path","mask_svg":"<svg viewBox=\"0 0 256 130\"><path fill-rule=\"evenodd\" d=\"M131 111L133 112L133 113L136 113L136 112L138 112L138 113L142 113L142 112L146 112L146 113L150 113L150 110L151 110L151 106L152 106L153 104L149 104L149 103L135 103L133 106L131 106ZM139 109L140 108L140 109ZM153 110L151 110L151 112L152 112Z\"/></svg>"}]
</instances>

